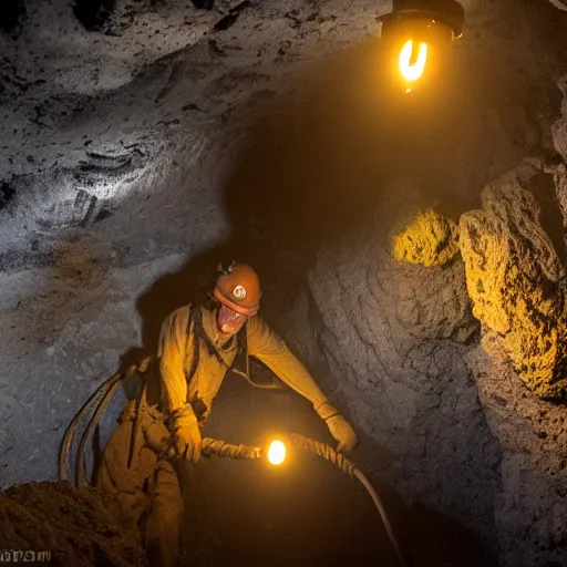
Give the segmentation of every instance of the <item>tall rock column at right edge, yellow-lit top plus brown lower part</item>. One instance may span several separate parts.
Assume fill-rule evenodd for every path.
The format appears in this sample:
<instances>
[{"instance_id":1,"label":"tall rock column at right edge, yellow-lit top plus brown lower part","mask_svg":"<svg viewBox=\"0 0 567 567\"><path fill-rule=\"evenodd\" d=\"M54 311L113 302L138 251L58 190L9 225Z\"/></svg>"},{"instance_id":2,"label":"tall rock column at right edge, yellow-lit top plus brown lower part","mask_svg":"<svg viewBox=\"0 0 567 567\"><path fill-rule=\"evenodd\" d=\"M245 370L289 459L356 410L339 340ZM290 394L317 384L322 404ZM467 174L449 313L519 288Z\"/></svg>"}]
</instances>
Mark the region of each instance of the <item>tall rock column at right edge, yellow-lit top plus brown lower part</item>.
<instances>
[{"instance_id":1,"label":"tall rock column at right edge, yellow-lit top plus brown lower part","mask_svg":"<svg viewBox=\"0 0 567 567\"><path fill-rule=\"evenodd\" d=\"M485 352L468 362L503 449L494 504L503 566L558 566L567 556L567 409L538 399L567 388L565 179L565 164L526 161L460 223L484 329Z\"/></svg>"}]
</instances>

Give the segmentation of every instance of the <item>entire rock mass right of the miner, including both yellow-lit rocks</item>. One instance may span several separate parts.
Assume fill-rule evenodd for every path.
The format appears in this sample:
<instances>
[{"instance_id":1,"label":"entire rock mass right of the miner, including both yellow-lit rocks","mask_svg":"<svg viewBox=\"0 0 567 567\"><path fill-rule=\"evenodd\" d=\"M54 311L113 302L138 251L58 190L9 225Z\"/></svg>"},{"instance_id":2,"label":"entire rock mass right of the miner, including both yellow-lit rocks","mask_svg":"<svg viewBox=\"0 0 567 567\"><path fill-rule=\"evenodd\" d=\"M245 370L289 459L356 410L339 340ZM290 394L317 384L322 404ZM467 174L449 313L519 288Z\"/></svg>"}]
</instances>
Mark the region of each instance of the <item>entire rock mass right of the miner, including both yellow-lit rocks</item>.
<instances>
[{"instance_id":1,"label":"entire rock mass right of the miner, including both yellow-lit rocks","mask_svg":"<svg viewBox=\"0 0 567 567\"><path fill-rule=\"evenodd\" d=\"M567 556L567 411L542 400L566 393L565 183L565 164L526 159L458 234L432 210L402 230L377 216L310 275L321 349L398 487L483 534L503 567ZM457 243L464 262L435 255Z\"/></svg>"}]
</instances>

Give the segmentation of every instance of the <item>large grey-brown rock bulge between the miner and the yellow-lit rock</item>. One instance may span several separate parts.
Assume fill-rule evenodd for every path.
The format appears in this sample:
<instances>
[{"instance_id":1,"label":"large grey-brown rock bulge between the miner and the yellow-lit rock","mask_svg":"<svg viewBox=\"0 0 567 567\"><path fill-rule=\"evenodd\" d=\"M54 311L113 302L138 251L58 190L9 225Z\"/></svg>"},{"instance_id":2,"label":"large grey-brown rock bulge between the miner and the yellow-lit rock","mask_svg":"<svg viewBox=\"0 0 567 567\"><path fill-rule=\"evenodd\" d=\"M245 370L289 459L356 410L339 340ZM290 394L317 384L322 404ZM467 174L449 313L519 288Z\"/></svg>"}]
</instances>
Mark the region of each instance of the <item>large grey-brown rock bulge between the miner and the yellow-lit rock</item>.
<instances>
[{"instance_id":1,"label":"large grey-brown rock bulge between the miner and the yellow-lit rock","mask_svg":"<svg viewBox=\"0 0 567 567\"><path fill-rule=\"evenodd\" d=\"M388 447L394 483L494 550L499 446L464 357L476 323L462 262L393 259L391 220L324 248L309 276L320 347L354 422Z\"/></svg>"}]
</instances>

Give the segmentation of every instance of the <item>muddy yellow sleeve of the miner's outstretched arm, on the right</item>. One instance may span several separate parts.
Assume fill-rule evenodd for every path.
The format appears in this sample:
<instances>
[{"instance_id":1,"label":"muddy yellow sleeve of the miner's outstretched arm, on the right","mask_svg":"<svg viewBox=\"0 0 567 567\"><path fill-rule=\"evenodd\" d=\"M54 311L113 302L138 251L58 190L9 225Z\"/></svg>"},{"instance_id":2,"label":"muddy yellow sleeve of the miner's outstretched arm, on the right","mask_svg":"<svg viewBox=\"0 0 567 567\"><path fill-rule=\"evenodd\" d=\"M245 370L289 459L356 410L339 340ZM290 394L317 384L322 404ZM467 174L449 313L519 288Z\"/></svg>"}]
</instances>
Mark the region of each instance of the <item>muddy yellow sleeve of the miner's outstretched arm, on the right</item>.
<instances>
[{"instance_id":1,"label":"muddy yellow sleeve of the miner's outstretched arm, on the right","mask_svg":"<svg viewBox=\"0 0 567 567\"><path fill-rule=\"evenodd\" d=\"M247 333L250 357L266 364L281 381L313 405L327 401L306 367L259 316L250 319Z\"/></svg>"}]
</instances>

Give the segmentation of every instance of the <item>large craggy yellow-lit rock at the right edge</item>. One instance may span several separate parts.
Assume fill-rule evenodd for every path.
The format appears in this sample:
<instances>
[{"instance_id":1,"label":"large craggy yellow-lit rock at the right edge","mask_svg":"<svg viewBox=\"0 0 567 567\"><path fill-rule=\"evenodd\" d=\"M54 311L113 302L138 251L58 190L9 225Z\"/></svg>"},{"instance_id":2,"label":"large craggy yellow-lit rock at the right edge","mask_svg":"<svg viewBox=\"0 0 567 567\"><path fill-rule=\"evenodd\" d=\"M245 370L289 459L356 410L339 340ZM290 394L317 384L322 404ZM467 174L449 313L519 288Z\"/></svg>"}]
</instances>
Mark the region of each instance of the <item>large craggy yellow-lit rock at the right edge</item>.
<instances>
[{"instance_id":1,"label":"large craggy yellow-lit rock at the right edge","mask_svg":"<svg viewBox=\"0 0 567 567\"><path fill-rule=\"evenodd\" d=\"M559 174L559 172L557 172ZM542 161L483 189L482 210L460 221L473 313L485 348L505 353L538 395L567 394L567 244L558 190Z\"/></svg>"}]
</instances>

